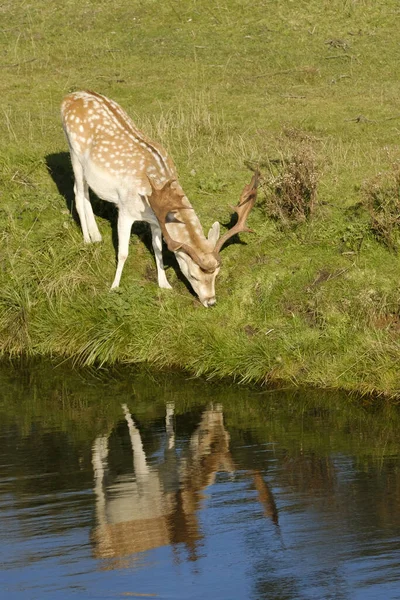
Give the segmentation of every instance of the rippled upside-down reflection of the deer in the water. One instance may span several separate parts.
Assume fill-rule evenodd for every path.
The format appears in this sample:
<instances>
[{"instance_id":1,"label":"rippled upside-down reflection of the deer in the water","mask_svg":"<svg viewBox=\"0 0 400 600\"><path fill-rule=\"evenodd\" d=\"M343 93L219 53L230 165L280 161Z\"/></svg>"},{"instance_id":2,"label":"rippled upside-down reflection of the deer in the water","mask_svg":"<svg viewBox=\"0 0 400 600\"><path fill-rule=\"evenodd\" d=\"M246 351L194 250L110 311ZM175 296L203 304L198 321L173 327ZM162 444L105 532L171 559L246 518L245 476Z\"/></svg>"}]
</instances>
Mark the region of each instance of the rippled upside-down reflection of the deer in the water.
<instances>
[{"instance_id":1,"label":"rippled upside-down reflection of the deer in the water","mask_svg":"<svg viewBox=\"0 0 400 600\"><path fill-rule=\"evenodd\" d=\"M111 476L109 436L96 438L92 449L97 526L92 541L106 568L129 566L139 552L183 544L190 560L198 558L202 539L198 511L203 490L220 472L236 470L221 405L203 411L186 451L177 452L174 406L167 404L162 462L153 466L127 405L122 405L133 454L133 474ZM278 523L273 496L259 471L249 471L264 514Z\"/></svg>"}]
</instances>

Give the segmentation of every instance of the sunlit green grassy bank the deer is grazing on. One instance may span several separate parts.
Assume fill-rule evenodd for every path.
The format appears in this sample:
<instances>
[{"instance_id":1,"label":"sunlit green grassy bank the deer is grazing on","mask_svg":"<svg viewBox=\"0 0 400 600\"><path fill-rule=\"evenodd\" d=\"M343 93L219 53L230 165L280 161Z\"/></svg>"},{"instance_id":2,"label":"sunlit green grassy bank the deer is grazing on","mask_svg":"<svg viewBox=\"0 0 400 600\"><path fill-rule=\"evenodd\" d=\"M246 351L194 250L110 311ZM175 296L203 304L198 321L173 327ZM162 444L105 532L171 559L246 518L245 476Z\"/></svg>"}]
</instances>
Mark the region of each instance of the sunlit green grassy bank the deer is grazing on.
<instances>
[{"instance_id":1,"label":"sunlit green grassy bank the deer is grazing on","mask_svg":"<svg viewBox=\"0 0 400 600\"><path fill-rule=\"evenodd\" d=\"M0 13L3 356L400 394L397 224L388 243L370 206L400 159L397 2L14 0ZM256 234L223 250L215 309L170 256L173 290L157 288L141 226L109 292L115 214L94 199L104 242L85 246L70 210L59 104L80 88L169 149L205 229L229 222L260 167ZM299 156L316 205L285 220L271 194Z\"/></svg>"}]
</instances>

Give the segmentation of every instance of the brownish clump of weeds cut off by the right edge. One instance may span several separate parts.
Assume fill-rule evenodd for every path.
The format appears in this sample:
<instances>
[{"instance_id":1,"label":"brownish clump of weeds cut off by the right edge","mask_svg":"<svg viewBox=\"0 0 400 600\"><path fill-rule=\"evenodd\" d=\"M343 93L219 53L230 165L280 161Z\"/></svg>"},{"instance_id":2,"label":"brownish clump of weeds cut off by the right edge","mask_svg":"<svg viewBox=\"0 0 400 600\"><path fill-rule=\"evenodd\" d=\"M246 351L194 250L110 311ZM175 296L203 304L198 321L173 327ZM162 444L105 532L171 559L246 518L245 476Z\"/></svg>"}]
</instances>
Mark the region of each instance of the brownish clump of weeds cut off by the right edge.
<instances>
[{"instance_id":1,"label":"brownish clump of weeds cut off by the right edge","mask_svg":"<svg viewBox=\"0 0 400 600\"><path fill-rule=\"evenodd\" d=\"M366 181L362 196L373 235L389 250L397 252L400 243L400 162L394 163L390 171L378 173Z\"/></svg>"}]
</instances>

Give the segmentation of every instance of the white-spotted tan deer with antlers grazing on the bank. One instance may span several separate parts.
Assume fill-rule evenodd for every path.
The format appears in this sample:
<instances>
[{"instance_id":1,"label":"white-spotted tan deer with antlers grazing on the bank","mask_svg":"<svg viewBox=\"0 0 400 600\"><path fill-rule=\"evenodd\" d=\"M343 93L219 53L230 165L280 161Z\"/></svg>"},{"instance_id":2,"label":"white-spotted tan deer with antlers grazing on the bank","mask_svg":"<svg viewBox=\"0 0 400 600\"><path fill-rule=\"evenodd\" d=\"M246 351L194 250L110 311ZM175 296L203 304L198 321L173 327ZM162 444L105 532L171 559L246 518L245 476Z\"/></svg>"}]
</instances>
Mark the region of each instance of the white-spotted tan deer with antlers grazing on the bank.
<instances>
[{"instance_id":1,"label":"white-spotted tan deer with antlers grazing on the bank","mask_svg":"<svg viewBox=\"0 0 400 600\"><path fill-rule=\"evenodd\" d=\"M158 143L151 141L114 100L92 91L68 94L61 104L67 138L76 212L85 243L100 242L89 188L118 208L117 268L111 289L119 287L129 252L132 225L150 225L160 288L171 289L163 263L162 238L179 268L205 307L216 303L215 279L221 266L220 251L240 232L251 232L247 216L257 196L258 172L245 185L236 225L220 235L216 221L207 237L196 212L178 182L176 167Z\"/></svg>"}]
</instances>

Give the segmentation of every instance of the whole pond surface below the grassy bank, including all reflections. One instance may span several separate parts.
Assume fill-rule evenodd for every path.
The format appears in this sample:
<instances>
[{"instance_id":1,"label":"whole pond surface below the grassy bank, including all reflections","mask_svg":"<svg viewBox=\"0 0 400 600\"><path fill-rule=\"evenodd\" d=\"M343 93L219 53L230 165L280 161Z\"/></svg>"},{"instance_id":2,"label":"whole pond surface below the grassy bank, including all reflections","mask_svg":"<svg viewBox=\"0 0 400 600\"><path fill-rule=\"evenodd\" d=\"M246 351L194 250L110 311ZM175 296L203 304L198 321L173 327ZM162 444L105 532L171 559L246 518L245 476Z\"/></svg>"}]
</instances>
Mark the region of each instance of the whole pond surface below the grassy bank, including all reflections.
<instances>
[{"instance_id":1,"label":"whole pond surface below the grassy bank, including all reflections","mask_svg":"<svg viewBox=\"0 0 400 600\"><path fill-rule=\"evenodd\" d=\"M0 598L400 598L397 409L0 370Z\"/></svg>"}]
</instances>

